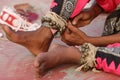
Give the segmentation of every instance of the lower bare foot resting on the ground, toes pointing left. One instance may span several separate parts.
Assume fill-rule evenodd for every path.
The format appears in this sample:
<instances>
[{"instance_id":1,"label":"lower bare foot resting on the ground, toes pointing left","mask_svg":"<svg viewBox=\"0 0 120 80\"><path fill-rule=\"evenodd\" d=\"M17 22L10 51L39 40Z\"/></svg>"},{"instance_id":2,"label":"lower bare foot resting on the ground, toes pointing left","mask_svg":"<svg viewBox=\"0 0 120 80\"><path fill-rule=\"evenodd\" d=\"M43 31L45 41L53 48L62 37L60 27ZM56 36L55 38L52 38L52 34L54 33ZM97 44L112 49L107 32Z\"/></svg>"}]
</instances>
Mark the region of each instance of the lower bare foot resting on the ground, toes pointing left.
<instances>
[{"instance_id":1,"label":"lower bare foot resting on the ground, toes pointing left","mask_svg":"<svg viewBox=\"0 0 120 80\"><path fill-rule=\"evenodd\" d=\"M75 47L54 46L49 52L39 54L36 57L34 66L38 74L37 77L42 77L49 69L60 64L78 64L80 56L80 51Z\"/></svg>"}]
</instances>

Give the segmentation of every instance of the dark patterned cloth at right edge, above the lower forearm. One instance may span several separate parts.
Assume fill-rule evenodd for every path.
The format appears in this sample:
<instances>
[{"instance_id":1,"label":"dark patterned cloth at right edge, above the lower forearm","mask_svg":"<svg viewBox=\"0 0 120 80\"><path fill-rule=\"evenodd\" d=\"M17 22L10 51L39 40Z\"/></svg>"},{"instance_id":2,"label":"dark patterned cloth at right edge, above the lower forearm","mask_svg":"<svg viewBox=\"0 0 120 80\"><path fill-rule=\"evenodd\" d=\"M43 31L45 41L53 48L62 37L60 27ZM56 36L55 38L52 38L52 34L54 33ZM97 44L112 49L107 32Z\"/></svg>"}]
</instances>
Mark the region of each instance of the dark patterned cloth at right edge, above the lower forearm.
<instances>
[{"instance_id":1,"label":"dark patterned cloth at right edge, above the lower forearm","mask_svg":"<svg viewBox=\"0 0 120 80\"><path fill-rule=\"evenodd\" d=\"M120 5L106 19L103 36L120 33Z\"/></svg>"}]
</instances>

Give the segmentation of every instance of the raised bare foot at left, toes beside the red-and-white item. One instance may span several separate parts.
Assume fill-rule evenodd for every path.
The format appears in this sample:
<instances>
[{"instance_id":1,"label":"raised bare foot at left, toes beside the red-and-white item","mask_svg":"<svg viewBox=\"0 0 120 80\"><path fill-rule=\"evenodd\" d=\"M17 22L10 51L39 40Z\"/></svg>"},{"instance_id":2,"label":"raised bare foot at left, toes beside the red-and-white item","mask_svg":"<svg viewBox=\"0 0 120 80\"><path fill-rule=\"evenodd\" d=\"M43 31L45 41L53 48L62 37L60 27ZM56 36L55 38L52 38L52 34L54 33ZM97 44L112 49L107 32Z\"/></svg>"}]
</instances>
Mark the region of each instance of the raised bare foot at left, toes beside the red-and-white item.
<instances>
[{"instance_id":1,"label":"raised bare foot at left, toes beside the red-and-white item","mask_svg":"<svg viewBox=\"0 0 120 80\"><path fill-rule=\"evenodd\" d=\"M10 41L23 45L34 55L47 51L53 39L51 31L47 27L29 32L15 32L6 25L2 25L2 27Z\"/></svg>"}]
</instances>

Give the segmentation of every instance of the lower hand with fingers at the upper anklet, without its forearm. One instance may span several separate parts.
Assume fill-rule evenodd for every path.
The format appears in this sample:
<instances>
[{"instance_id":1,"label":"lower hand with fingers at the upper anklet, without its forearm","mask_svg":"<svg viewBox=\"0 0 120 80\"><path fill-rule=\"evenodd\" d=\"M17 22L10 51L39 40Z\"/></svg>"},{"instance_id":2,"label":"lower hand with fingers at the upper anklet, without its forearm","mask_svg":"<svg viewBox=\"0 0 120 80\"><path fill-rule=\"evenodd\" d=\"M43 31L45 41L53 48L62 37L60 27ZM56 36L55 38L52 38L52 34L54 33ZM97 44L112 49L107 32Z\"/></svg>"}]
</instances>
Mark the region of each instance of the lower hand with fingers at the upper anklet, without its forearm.
<instances>
[{"instance_id":1,"label":"lower hand with fingers at the upper anklet, without its forearm","mask_svg":"<svg viewBox=\"0 0 120 80\"><path fill-rule=\"evenodd\" d=\"M84 42L87 42L88 36L73 26L71 22L68 22L68 30L62 34L62 41L68 45L81 45Z\"/></svg>"}]
</instances>

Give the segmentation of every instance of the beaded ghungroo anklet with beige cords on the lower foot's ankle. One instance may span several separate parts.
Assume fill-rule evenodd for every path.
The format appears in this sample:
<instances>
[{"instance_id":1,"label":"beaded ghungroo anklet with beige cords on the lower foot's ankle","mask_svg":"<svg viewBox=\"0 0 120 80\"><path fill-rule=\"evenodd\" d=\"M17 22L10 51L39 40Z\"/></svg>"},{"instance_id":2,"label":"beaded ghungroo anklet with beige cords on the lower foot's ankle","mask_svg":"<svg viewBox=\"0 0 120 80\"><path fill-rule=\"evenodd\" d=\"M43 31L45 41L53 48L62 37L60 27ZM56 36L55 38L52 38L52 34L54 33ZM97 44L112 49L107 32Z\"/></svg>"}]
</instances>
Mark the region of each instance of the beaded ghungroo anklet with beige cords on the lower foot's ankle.
<instances>
[{"instance_id":1,"label":"beaded ghungroo anklet with beige cords on the lower foot's ankle","mask_svg":"<svg viewBox=\"0 0 120 80\"><path fill-rule=\"evenodd\" d=\"M82 55L80 58L80 67L76 71L88 71L95 68L95 55L98 48L90 43L84 43L79 49Z\"/></svg>"}]
</instances>

